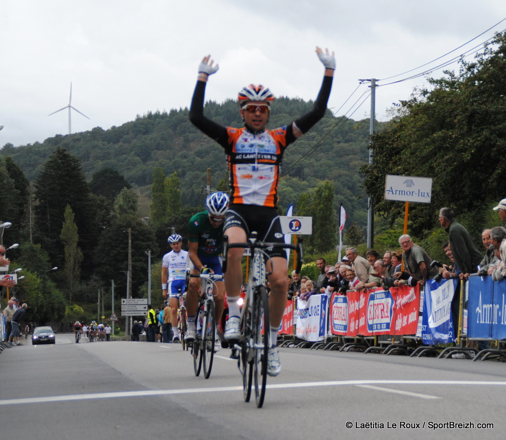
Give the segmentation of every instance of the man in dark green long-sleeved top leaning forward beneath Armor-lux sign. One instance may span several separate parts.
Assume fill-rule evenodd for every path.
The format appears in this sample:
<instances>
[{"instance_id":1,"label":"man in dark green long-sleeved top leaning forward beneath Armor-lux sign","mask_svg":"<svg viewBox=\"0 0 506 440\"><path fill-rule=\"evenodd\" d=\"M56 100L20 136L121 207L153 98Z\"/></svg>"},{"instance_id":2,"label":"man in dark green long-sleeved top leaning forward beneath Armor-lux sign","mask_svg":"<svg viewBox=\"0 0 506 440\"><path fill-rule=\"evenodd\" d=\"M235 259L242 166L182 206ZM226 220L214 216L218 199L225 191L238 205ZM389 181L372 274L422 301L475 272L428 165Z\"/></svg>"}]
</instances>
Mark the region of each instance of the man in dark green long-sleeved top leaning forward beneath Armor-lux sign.
<instances>
[{"instance_id":1,"label":"man in dark green long-sleeved top leaning forward beneath Armor-lux sign","mask_svg":"<svg viewBox=\"0 0 506 440\"><path fill-rule=\"evenodd\" d=\"M448 232L453 258L462 271L460 279L468 279L471 273L478 272L478 264L483 259L483 255L467 229L455 220L455 214L451 208L441 208L438 218L441 226Z\"/></svg>"}]
</instances>

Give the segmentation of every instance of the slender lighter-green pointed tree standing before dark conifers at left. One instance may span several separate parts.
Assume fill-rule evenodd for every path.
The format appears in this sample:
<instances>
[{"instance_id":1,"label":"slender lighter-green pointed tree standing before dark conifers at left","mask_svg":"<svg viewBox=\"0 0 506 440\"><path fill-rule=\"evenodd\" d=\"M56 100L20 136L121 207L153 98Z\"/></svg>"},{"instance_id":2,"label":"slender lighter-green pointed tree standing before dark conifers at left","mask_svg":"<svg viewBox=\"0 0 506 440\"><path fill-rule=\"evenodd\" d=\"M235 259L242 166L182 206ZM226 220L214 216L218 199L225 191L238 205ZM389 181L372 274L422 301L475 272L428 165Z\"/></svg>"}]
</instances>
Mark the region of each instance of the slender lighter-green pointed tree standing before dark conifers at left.
<instances>
[{"instance_id":1,"label":"slender lighter-green pointed tree standing before dark conifers at left","mask_svg":"<svg viewBox=\"0 0 506 440\"><path fill-rule=\"evenodd\" d=\"M79 235L74 223L74 213L70 205L65 209L65 222L63 223L60 238L63 242L65 255L64 276L67 283L69 304L72 304L74 287L79 283L81 274L82 252L77 246Z\"/></svg>"}]
</instances>

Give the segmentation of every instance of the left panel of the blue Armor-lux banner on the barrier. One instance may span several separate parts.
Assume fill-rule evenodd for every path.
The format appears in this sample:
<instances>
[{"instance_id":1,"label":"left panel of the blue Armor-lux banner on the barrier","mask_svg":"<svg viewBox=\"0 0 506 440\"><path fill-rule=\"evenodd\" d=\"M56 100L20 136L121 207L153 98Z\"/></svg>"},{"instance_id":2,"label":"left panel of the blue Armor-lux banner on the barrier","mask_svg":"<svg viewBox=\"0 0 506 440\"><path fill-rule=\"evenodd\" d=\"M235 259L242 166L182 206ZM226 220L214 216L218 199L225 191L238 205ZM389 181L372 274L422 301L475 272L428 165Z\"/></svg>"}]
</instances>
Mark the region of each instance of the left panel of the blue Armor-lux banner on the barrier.
<instances>
[{"instance_id":1,"label":"left panel of the blue Armor-lux banner on the barrier","mask_svg":"<svg viewBox=\"0 0 506 440\"><path fill-rule=\"evenodd\" d=\"M497 318L492 277L470 276L468 289L468 337L490 339Z\"/></svg>"}]
</instances>

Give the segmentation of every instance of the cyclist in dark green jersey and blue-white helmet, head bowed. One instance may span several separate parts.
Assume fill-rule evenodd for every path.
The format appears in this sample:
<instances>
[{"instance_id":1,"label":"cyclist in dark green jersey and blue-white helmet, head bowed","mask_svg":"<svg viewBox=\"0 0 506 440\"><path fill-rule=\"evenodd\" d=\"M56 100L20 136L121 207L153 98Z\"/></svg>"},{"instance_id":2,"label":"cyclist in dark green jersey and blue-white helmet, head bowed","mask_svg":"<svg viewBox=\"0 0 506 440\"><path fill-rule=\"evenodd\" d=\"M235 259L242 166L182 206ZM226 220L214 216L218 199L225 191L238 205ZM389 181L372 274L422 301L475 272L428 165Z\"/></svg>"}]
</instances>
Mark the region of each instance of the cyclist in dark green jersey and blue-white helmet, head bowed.
<instances>
[{"instance_id":1,"label":"cyclist in dark green jersey and blue-white helmet, head bowed","mask_svg":"<svg viewBox=\"0 0 506 440\"><path fill-rule=\"evenodd\" d=\"M188 222L188 255L191 274L198 274L202 270L212 271L222 275L221 253L223 251L223 224L229 198L224 192L214 192L205 199L206 211L195 214ZM195 340L195 311L197 309L197 293L200 287L199 278L190 278L186 295L186 311L188 314L188 330L185 341ZM216 325L223 313L225 298L225 284L217 281L218 292L214 292ZM191 313L191 315L190 315ZM221 348L221 342L216 332L215 351Z\"/></svg>"}]
</instances>

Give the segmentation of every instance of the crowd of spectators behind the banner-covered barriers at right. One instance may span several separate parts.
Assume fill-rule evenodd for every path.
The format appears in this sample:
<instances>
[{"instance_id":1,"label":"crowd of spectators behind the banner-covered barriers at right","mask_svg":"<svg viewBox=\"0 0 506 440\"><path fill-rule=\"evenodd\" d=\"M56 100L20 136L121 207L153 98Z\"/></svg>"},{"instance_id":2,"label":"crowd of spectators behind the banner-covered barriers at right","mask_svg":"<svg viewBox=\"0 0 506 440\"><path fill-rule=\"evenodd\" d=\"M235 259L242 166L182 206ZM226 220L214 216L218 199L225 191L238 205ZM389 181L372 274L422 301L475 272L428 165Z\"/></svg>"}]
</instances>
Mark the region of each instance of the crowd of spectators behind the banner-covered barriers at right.
<instances>
[{"instance_id":1,"label":"crowd of spectators behind the banner-covered barriers at right","mask_svg":"<svg viewBox=\"0 0 506 440\"><path fill-rule=\"evenodd\" d=\"M493 208L506 223L506 198ZM288 276L288 299L298 297L307 300L311 295L330 295L337 291L345 294L349 290L365 290L375 287L391 287L419 284L424 287L428 279L468 279L471 274L490 275L494 281L506 278L506 228L496 226L482 232L484 249L480 251L471 234L456 221L451 208L441 208L438 220L448 234L443 245L447 264L435 261L411 237L399 237L400 250L387 251L381 255L374 249L358 254L354 247L346 249L345 256L334 266L327 265L324 258L318 258L319 270L316 281L301 277L294 271ZM458 304L459 290L456 289L454 304ZM455 306L452 305L455 309ZM458 310L457 310L458 313Z\"/></svg>"}]
</instances>

